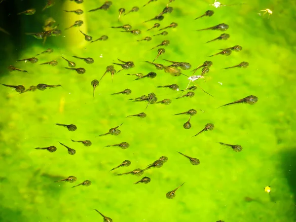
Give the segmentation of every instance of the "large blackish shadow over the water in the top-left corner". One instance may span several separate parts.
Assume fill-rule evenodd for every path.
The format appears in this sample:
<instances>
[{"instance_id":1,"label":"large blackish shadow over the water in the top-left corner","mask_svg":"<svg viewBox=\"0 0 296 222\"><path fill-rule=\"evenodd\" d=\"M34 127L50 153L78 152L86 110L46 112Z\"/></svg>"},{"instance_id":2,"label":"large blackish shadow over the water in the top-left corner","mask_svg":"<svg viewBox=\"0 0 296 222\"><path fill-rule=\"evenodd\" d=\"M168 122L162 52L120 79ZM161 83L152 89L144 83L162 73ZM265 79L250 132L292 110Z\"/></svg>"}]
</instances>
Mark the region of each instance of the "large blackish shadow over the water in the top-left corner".
<instances>
[{"instance_id":1,"label":"large blackish shadow over the water in the top-left corner","mask_svg":"<svg viewBox=\"0 0 296 222\"><path fill-rule=\"evenodd\" d=\"M43 22L49 17L48 11L41 12L45 4L46 0L4 0L0 3L1 68L14 63L19 58L19 53L37 42L36 38L27 36L25 33L42 32ZM18 15L30 8L36 9L34 15ZM1 74L5 73L1 72Z\"/></svg>"}]
</instances>

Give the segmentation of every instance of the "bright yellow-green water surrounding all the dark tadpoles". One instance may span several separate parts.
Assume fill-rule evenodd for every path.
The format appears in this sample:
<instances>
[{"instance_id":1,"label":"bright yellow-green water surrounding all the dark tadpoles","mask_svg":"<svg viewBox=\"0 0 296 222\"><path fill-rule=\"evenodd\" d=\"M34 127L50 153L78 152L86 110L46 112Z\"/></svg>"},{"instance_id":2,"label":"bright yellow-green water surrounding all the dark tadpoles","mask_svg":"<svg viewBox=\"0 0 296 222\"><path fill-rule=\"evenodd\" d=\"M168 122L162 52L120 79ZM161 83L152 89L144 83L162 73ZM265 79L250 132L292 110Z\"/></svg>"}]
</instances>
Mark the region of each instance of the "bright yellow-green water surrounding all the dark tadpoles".
<instances>
[{"instance_id":1,"label":"bright yellow-green water surrounding all the dark tadpoles","mask_svg":"<svg viewBox=\"0 0 296 222\"><path fill-rule=\"evenodd\" d=\"M296 3L248 1L248 4L216 9L208 5L211 1L176 0L170 4L174 11L165 15L160 28L171 22L177 22L178 27L168 29L168 36L138 42L136 40L159 33L155 29L146 31L154 21L142 22L160 13L167 0L151 2L138 12L122 16L120 22L118 9L129 10L147 1L113 1L110 10L96 12L87 11L101 6L103 1L85 0L83 4L64 1L43 13L40 9L45 3L38 2L35 19L23 16L23 33L39 32L44 19L53 16L62 30L81 19L84 21L81 31L94 39L102 35L109 39L89 44L79 28L72 28L60 37L48 38L44 45L42 40L22 34L18 37L23 44L22 51L13 49L12 41L7 40L2 46L6 59L2 60L0 83L21 84L26 88L38 83L61 84L63 88L19 95L15 90L0 87L0 221L103 221L93 209L114 222L295 221ZM27 9L26 5L19 7L18 11ZM85 13L78 16L63 12L78 8ZM273 11L269 19L267 15L258 15L264 8ZM212 17L194 20L209 9L215 11ZM224 32L230 35L226 41L205 44L222 32L194 32L220 23L229 25ZM133 36L110 28L123 24L131 24L142 34ZM171 43L157 63L169 64L162 59L189 62L193 69L206 60L213 62L206 82L202 79L197 82L214 98L197 89L193 98L174 100L180 91L156 88L175 83L184 89L188 84L185 76L174 77L144 62L156 57L157 49L149 49L164 39ZM217 49L237 44L243 47L242 51L232 52L228 57L208 57L219 52ZM49 47L54 52L38 56L37 64L15 62L34 57ZM67 63L61 55L75 61L76 67L85 68L86 73L79 75L64 69ZM73 55L92 57L95 63L85 64L72 58ZM117 58L133 61L135 68L115 74L113 82L107 74L93 99L90 82L100 79L106 67L117 62ZM58 66L38 65L51 60L57 60ZM249 62L250 66L222 70L242 61ZM29 73L9 73L8 65ZM119 67L115 65L115 69L118 71ZM133 81L133 76L126 75L149 72L156 72L157 76ZM128 96L110 95L126 88L132 90ZM154 92L159 101L169 98L172 103L151 104L145 110L146 103L128 100L150 92ZM258 103L217 109L249 95L256 95ZM191 118L192 127L186 130L183 124L188 116L172 114L189 109L198 112ZM147 113L144 119L126 118L142 111ZM54 123L75 124L77 130L70 132ZM121 123L120 135L96 137ZM215 129L192 138L207 123L214 123ZM70 139L90 140L93 145L84 147ZM76 149L76 154L69 155L58 141ZM130 147L104 148L121 142L128 142ZM239 144L243 150L234 152L218 142ZM57 151L34 149L49 146L56 146ZM176 151L198 158L200 164L191 165ZM149 169L141 177L115 176L143 169L162 155L167 156L168 161L159 169ZM125 159L132 162L129 167L109 172ZM77 177L76 183L53 183L70 175ZM133 184L144 176L151 178L149 184ZM92 184L71 188L84 180ZM184 182L174 199L166 198L168 191ZM267 185L271 186L270 193L264 192ZM247 202L245 197L253 201Z\"/></svg>"}]
</instances>

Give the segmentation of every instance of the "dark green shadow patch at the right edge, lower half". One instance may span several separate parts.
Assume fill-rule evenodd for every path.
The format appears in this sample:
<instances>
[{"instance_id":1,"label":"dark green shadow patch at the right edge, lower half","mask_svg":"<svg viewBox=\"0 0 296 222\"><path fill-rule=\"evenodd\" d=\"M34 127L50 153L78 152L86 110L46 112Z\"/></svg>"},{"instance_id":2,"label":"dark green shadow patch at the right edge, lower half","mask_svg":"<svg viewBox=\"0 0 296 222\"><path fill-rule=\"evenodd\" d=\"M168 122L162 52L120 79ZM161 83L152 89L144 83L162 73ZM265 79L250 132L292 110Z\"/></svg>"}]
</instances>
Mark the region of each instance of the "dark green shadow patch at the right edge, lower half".
<instances>
[{"instance_id":1,"label":"dark green shadow patch at the right edge, lower half","mask_svg":"<svg viewBox=\"0 0 296 222\"><path fill-rule=\"evenodd\" d=\"M294 194L294 203L296 205L296 148L290 148L281 153L282 169ZM294 221L296 221L296 211L294 211Z\"/></svg>"}]
</instances>

